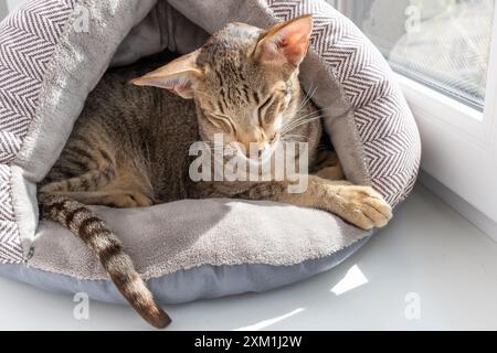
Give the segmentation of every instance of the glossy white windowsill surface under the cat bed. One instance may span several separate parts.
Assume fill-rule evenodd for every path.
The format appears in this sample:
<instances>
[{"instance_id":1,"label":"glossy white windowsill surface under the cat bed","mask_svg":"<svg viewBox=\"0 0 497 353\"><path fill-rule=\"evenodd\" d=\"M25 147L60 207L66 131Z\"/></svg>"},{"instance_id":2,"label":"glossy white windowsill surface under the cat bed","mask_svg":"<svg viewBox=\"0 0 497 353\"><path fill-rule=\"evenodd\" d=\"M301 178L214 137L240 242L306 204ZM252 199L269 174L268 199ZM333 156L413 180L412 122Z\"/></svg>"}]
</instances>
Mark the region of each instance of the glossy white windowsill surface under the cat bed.
<instances>
[{"instance_id":1,"label":"glossy white windowsill surface under the cat bed","mask_svg":"<svg viewBox=\"0 0 497 353\"><path fill-rule=\"evenodd\" d=\"M497 244L422 185L391 224L346 261L264 293L167 306L169 330L497 330ZM148 330L128 306L0 278L2 330ZM419 319L405 315L417 293ZM282 350L283 351L283 350Z\"/></svg>"}]
</instances>

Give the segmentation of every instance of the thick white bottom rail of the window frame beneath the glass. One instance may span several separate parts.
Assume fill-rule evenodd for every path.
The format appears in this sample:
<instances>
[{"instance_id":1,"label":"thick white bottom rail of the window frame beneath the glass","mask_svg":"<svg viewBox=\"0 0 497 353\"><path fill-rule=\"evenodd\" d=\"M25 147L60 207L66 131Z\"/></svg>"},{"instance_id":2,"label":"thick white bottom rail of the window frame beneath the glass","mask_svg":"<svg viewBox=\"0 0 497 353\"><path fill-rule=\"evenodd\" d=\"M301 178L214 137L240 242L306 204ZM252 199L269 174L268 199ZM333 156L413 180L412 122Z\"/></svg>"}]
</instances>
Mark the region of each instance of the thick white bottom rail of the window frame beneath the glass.
<instances>
[{"instance_id":1,"label":"thick white bottom rail of the window frame beneath the glass","mask_svg":"<svg viewBox=\"0 0 497 353\"><path fill-rule=\"evenodd\" d=\"M405 76L395 76L421 133L421 182L497 240L491 119Z\"/></svg>"}]
</instances>

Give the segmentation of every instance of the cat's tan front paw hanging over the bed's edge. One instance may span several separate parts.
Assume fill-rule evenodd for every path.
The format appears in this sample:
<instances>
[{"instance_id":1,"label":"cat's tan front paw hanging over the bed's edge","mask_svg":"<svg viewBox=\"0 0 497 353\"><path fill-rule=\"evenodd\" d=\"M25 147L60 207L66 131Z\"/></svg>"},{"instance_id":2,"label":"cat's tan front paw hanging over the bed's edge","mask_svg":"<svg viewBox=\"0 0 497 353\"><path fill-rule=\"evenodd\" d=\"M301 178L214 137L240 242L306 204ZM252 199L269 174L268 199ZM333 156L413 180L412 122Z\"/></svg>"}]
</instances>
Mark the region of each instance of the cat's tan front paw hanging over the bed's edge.
<instances>
[{"instance_id":1,"label":"cat's tan front paw hanging over the bed's edge","mask_svg":"<svg viewBox=\"0 0 497 353\"><path fill-rule=\"evenodd\" d=\"M382 227L392 217L392 207L370 186L347 185L336 197L337 214L362 229Z\"/></svg>"}]
</instances>

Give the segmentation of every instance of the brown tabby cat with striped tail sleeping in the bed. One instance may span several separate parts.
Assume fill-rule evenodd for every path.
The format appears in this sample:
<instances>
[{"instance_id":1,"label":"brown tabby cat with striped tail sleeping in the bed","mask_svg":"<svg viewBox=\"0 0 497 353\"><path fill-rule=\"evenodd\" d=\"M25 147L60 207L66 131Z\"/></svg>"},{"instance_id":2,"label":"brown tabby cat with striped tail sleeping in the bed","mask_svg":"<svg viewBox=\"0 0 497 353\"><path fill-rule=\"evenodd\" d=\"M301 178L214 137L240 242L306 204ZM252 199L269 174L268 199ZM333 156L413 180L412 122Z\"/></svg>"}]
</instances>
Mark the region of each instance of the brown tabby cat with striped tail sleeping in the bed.
<instances>
[{"instance_id":1,"label":"brown tabby cat with striped tail sleeping in the bed","mask_svg":"<svg viewBox=\"0 0 497 353\"><path fill-rule=\"evenodd\" d=\"M138 207L187 197L239 197L325 210L363 229L391 218L379 193L346 181L336 156L319 149L319 110L298 81L311 29L310 15L266 30L230 23L199 50L151 72L157 64L150 62L108 71L39 185L42 217L59 222L93 249L150 324L163 328L170 318L118 237L87 204ZM226 146L255 143L257 156L304 139L313 172L306 175L306 191L289 193L289 179L193 182L188 147L213 141L216 133L223 133Z\"/></svg>"}]
</instances>

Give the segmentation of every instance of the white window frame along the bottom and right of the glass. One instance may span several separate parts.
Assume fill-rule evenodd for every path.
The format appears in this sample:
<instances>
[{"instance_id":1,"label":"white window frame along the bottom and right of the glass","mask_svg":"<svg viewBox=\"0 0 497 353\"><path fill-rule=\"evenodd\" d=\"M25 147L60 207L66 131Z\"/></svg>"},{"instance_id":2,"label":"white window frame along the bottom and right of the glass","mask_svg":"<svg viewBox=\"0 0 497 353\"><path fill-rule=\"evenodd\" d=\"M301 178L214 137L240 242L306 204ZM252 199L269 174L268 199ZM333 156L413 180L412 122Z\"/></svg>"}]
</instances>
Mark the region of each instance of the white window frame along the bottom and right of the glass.
<instances>
[{"instance_id":1,"label":"white window frame along the bottom and right of the glass","mask_svg":"<svg viewBox=\"0 0 497 353\"><path fill-rule=\"evenodd\" d=\"M351 18L350 1L328 1ZM394 76L421 133L423 173L497 223L497 3L485 105L479 111L402 74ZM437 193L437 190L434 190ZM450 196L444 200L451 199ZM457 205L453 205L457 208ZM459 211L459 210L458 210Z\"/></svg>"}]
</instances>

